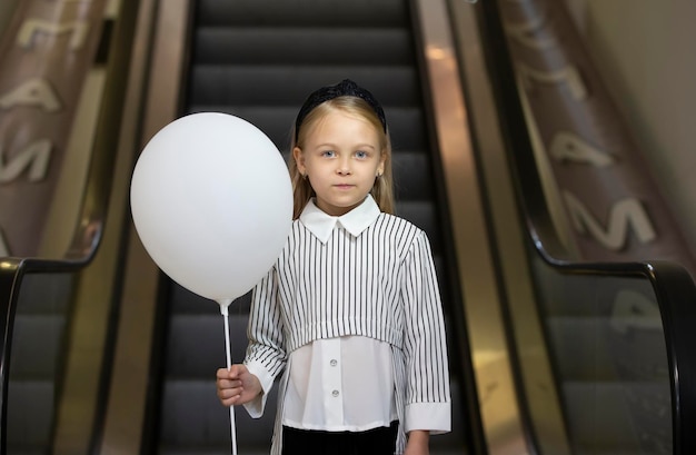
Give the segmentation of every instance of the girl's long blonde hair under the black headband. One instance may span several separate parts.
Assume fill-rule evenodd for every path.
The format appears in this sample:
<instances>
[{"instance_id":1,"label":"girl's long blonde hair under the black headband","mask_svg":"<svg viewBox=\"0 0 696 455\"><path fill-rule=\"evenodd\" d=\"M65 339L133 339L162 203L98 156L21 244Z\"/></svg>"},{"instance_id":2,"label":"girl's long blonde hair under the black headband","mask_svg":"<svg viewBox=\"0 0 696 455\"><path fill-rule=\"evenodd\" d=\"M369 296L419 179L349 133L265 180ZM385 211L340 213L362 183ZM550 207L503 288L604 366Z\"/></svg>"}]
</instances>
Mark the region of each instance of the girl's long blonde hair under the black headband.
<instances>
[{"instance_id":1,"label":"girl's long blonde hair under the black headband","mask_svg":"<svg viewBox=\"0 0 696 455\"><path fill-rule=\"evenodd\" d=\"M382 127L381 121L375 113L375 109L370 107L365 100L358 97L344 96L332 98L325 101L314 108L300 125L299 131L292 131L292 144L290 145L290 151L296 147L302 148L305 140L307 139L308 131L311 131L321 119L326 117L328 112L335 110L342 110L350 115L357 116L367 120L377 131L379 136L380 156L385 156L384 172L380 177L375 179L375 185L370 190L370 195L379 206L379 209L387 214L394 214L394 177L391 172L391 139L389 138L389 131ZM297 138L297 139L295 139ZM292 219L299 218L300 214L305 209L305 206L309 200L316 196L315 190L309 184L309 179L305 178L297 168L297 162L290 159L288 164L290 170L290 179L292 181Z\"/></svg>"}]
</instances>

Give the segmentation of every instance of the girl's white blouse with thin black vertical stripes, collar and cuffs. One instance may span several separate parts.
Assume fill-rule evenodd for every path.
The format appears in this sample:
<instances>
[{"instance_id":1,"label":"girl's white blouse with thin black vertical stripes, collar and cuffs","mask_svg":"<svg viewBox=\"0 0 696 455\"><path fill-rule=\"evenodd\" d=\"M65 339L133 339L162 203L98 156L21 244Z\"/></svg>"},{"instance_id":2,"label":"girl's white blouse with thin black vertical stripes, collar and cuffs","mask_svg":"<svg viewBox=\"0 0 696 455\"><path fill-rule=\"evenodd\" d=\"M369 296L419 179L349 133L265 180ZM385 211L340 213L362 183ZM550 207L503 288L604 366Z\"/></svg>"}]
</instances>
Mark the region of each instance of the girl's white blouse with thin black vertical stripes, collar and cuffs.
<instances>
[{"instance_id":1,"label":"girl's white blouse with thin black vertical stripes, collar and cuffs","mask_svg":"<svg viewBox=\"0 0 696 455\"><path fill-rule=\"evenodd\" d=\"M258 403L246 405L252 416L262 413L292 353L317 340L358 336L391 346L397 452L405 432L450 429L445 328L428 239L409 221L380 212L370 196L341 217L307 205L253 290L248 335L245 364L265 390ZM288 376L280 382L274 454L280 453Z\"/></svg>"}]
</instances>

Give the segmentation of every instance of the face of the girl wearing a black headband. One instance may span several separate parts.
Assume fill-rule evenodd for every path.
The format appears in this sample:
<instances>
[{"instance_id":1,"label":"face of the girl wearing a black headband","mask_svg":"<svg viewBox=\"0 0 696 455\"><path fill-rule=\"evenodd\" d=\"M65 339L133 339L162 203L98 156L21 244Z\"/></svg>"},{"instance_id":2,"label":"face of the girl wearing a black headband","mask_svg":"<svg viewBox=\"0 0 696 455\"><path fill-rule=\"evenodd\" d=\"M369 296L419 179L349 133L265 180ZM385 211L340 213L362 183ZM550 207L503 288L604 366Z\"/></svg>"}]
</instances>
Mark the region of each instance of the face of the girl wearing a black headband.
<instances>
[{"instance_id":1,"label":"face of the girl wearing a black headband","mask_svg":"<svg viewBox=\"0 0 696 455\"><path fill-rule=\"evenodd\" d=\"M360 205L384 172L379 135L367 120L332 110L310 127L292 156L317 194L317 207L341 216Z\"/></svg>"}]
</instances>

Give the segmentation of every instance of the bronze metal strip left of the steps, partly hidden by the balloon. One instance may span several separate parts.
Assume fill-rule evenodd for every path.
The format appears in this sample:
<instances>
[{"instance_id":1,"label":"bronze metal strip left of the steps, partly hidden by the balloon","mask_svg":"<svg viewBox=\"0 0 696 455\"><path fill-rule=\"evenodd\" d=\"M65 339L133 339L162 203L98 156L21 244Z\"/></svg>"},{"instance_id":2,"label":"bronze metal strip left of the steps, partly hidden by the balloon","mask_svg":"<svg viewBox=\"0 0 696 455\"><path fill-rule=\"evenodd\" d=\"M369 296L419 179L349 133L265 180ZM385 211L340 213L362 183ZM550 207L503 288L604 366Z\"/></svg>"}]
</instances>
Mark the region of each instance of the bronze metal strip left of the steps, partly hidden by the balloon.
<instances>
[{"instance_id":1,"label":"bronze metal strip left of the steps, partly hidden by the balloon","mask_svg":"<svg viewBox=\"0 0 696 455\"><path fill-rule=\"evenodd\" d=\"M141 0L137 27L136 73L131 95L145 99L142 130L130 133L141 146L178 113L180 80L185 58L189 1ZM149 75L143 80L142 75ZM135 102L135 101L133 101ZM138 116L140 106L133 106ZM133 125L137 128L137 125ZM132 166L132 162L131 162ZM127 179L130 182L130 179ZM125 194L129 194L128 188ZM155 309L159 268L145 251L132 222L129 226L119 329L116 337L111 387L101 454L132 455L140 451L150 374Z\"/></svg>"}]
</instances>

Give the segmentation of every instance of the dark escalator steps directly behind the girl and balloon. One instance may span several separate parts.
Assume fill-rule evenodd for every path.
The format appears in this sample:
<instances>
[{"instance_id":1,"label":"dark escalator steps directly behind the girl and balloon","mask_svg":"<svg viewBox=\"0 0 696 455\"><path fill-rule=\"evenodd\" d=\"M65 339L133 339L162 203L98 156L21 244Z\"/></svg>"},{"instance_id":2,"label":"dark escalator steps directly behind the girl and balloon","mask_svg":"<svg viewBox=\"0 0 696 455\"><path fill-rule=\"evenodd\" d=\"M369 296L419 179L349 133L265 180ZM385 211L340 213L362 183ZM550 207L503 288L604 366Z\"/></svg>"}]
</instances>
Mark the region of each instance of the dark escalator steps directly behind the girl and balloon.
<instances>
[{"instance_id":1,"label":"dark escalator steps directly behind the girl and balloon","mask_svg":"<svg viewBox=\"0 0 696 455\"><path fill-rule=\"evenodd\" d=\"M447 207L435 185L408 2L284 1L271 7L269 1L201 0L192 17L181 113L221 111L243 118L265 131L287 159L290 127L309 92L350 78L380 100L392 139L397 214L427 233L448 332L457 330L451 308L460 304L448 281L441 215ZM223 320L217 304L172 281L165 287L161 396L151 411L158 437L145 452L225 453L230 445L229 415L215 394L215 372L225 359ZM248 310L249 294L230 307L232 362L243 358ZM436 454L461 453L468 437L461 431L461 362L456 346L450 340L457 431L434 437ZM259 421L237 409L241 453L268 453L275 399L269 398Z\"/></svg>"}]
</instances>

